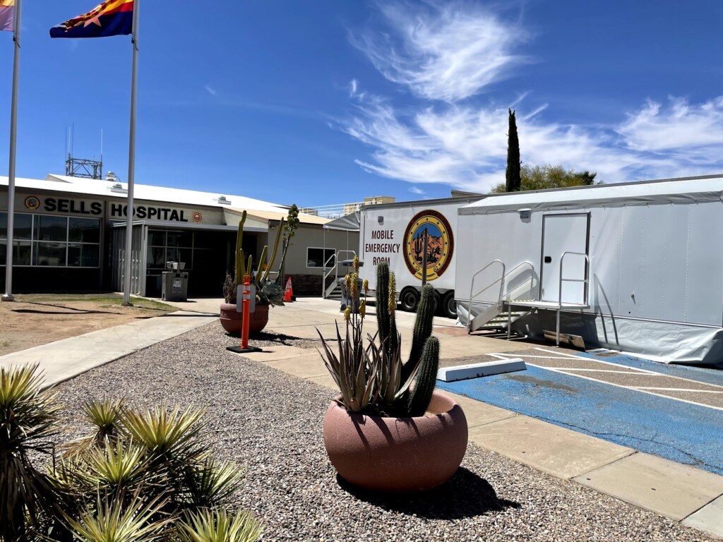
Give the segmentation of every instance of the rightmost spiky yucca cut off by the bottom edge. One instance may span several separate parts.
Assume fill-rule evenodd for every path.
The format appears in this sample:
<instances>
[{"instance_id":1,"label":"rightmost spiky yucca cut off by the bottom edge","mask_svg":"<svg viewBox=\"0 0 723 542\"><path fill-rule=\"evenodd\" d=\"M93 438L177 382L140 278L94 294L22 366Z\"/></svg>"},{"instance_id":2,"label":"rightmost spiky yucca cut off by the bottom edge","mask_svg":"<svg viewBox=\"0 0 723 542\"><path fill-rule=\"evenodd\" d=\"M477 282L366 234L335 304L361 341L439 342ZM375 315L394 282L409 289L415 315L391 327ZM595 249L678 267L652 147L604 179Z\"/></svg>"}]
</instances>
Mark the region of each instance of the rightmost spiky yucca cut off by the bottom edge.
<instances>
[{"instance_id":1,"label":"rightmost spiky yucca cut off by the bottom edge","mask_svg":"<svg viewBox=\"0 0 723 542\"><path fill-rule=\"evenodd\" d=\"M205 509L190 513L179 522L182 542L254 542L263 532L262 526L246 512L231 515L224 509Z\"/></svg>"}]
</instances>

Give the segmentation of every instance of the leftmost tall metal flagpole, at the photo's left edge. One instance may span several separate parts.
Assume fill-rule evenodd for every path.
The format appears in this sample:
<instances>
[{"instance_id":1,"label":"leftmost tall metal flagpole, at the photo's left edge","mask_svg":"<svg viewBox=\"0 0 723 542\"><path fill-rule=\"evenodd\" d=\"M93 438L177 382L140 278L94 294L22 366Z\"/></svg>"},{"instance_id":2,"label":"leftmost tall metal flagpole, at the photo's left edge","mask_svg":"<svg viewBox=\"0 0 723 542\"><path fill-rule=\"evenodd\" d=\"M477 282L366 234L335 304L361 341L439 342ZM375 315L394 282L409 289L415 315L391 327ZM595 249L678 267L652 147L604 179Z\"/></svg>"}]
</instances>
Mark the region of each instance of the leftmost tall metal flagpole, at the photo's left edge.
<instances>
[{"instance_id":1,"label":"leftmost tall metal flagpole, at the photo's left edge","mask_svg":"<svg viewBox=\"0 0 723 542\"><path fill-rule=\"evenodd\" d=\"M17 78L20 67L20 0L13 13L15 55L12 64L12 105L10 106L10 163L7 185L7 259L5 261L5 294L3 301L15 301L12 295L12 234L15 214L15 140L17 139Z\"/></svg>"}]
</instances>

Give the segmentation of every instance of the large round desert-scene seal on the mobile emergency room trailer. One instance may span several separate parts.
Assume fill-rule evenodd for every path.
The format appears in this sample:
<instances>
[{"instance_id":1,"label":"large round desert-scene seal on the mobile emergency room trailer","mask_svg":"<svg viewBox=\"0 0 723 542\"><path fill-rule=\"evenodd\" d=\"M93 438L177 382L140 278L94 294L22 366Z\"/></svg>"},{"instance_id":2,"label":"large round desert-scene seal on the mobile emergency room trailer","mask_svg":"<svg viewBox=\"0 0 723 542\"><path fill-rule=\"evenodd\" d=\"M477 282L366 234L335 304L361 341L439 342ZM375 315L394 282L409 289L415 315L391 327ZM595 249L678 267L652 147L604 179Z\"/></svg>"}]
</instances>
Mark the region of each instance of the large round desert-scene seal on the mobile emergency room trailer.
<instances>
[{"instance_id":1,"label":"large round desert-scene seal on the mobile emergency room trailer","mask_svg":"<svg viewBox=\"0 0 723 542\"><path fill-rule=\"evenodd\" d=\"M452 228L442 213L433 210L418 212L404 232L404 262L409 272L419 279L422 278L425 237L427 280L435 280L449 267L454 251Z\"/></svg>"}]
</instances>

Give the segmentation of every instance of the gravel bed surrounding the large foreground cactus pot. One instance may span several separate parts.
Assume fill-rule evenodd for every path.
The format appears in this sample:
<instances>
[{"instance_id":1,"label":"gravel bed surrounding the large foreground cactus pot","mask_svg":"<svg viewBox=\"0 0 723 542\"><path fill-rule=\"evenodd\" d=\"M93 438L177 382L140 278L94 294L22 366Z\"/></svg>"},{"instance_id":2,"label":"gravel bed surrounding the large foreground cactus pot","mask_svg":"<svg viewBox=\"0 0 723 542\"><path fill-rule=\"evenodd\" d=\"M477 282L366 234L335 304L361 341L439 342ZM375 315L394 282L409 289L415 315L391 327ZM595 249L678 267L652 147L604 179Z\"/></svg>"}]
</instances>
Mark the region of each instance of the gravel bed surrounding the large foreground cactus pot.
<instances>
[{"instance_id":1,"label":"gravel bed surrounding the large foreground cactus pot","mask_svg":"<svg viewBox=\"0 0 723 542\"><path fill-rule=\"evenodd\" d=\"M251 343L279 337L264 339ZM322 442L333 392L228 352L237 341L213 322L59 384L61 400L70 416L89 397L205 406L218 456L248 465L234 504L260 518L265 541L714 540L474 444L452 480L427 494L356 491L338 480ZM62 429L64 438L84 430Z\"/></svg>"}]
</instances>

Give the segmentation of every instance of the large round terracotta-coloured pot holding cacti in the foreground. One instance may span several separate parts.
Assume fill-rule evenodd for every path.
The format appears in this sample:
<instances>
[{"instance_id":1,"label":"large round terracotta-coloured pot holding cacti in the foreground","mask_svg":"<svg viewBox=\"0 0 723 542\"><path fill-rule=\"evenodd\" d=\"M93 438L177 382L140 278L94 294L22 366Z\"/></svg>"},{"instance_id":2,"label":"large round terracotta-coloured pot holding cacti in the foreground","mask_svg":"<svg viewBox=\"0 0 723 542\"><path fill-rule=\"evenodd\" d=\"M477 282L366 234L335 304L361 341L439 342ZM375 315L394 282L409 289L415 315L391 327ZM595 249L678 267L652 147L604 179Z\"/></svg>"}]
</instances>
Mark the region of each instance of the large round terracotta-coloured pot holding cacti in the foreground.
<instances>
[{"instance_id":1,"label":"large round terracotta-coloured pot holding cacti in the foreground","mask_svg":"<svg viewBox=\"0 0 723 542\"><path fill-rule=\"evenodd\" d=\"M414 418L349 413L332 401L324 418L324 445L339 475L355 486L425 491L448 481L462 463L467 418L440 392L432 395L427 415Z\"/></svg>"}]
</instances>

